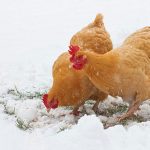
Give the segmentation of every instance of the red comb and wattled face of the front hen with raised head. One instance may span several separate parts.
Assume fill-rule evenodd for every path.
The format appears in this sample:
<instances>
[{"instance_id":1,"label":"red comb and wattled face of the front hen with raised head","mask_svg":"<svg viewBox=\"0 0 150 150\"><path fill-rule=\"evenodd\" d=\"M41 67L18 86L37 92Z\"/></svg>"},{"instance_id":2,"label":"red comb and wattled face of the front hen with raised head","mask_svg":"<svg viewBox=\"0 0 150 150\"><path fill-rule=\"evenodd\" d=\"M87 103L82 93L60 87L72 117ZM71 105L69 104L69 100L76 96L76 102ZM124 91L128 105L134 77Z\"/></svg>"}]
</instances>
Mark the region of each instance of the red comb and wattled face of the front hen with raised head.
<instances>
[{"instance_id":1,"label":"red comb and wattled face of the front hen with raised head","mask_svg":"<svg viewBox=\"0 0 150 150\"><path fill-rule=\"evenodd\" d=\"M69 46L69 54L71 55L70 62L73 64L72 67L76 70L83 69L84 65L87 62L87 59L84 55L77 55L77 52L79 50L79 46Z\"/></svg>"}]
</instances>

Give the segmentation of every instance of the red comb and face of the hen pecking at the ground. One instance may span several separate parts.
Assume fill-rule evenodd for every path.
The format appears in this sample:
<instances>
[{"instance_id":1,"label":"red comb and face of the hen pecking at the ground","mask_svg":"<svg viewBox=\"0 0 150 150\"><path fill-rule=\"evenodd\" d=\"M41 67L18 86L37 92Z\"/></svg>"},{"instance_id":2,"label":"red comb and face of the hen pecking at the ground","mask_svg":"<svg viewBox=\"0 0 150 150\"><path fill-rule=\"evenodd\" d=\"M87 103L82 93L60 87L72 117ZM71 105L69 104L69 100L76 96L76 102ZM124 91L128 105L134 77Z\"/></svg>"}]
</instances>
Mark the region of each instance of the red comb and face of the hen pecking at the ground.
<instances>
[{"instance_id":1,"label":"red comb and face of the hen pecking at the ground","mask_svg":"<svg viewBox=\"0 0 150 150\"><path fill-rule=\"evenodd\" d=\"M47 108L47 111L49 112L51 109L55 109L58 107L58 99L53 98L51 100L48 99L48 94L44 94L42 97L43 103L45 107Z\"/></svg>"}]
</instances>

